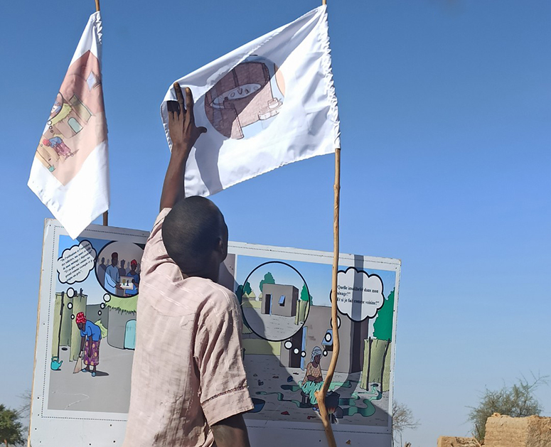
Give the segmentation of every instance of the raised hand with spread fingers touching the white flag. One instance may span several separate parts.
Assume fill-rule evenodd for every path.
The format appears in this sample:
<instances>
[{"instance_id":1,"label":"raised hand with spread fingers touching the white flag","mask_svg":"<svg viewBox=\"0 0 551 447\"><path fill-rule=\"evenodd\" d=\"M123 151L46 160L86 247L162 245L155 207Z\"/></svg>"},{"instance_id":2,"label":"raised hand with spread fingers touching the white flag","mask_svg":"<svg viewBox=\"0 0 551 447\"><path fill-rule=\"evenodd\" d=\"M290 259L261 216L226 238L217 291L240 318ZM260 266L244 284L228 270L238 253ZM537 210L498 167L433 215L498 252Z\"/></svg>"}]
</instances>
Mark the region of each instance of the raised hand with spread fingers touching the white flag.
<instances>
[{"instance_id":1,"label":"raised hand with spread fingers touching the white flag","mask_svg":"<svg viewBox=\"0 0 551 447\"><path fill-rule=\"evenodd\" d=\"M195 124L191 90L186 87L185 100L178 82L174 82L174 90L178 101L168 101L166 103L168 108L168 132L172 140L172 150L183 151L187 158L200 134L205 133L207 129L197 127Z\"/></svg>"}]
</instances>

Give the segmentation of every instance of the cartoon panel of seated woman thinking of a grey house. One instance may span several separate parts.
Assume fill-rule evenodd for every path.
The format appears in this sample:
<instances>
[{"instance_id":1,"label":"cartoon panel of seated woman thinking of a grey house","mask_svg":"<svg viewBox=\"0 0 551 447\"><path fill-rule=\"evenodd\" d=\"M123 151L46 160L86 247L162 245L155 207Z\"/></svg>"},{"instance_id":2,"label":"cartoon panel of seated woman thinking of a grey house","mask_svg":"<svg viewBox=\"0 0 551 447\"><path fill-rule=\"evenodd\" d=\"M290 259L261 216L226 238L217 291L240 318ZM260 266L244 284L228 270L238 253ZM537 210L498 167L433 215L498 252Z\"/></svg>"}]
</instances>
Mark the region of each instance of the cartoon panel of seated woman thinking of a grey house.
<instances>
[{"instance_id":1,"label":"cartoon panel of seated woman thinking of a grey house","mask_svg":"<svg viewBox=\"0 0 551 447\"><path fill-rule=\"evenodd\" d=\"M238 256L235 292L255 404L247 419L319 422L333 350L331 265ZM326 405L334 424L386 427L396 272L341 267L341 353Z\"/></svg>"}]
</instances>

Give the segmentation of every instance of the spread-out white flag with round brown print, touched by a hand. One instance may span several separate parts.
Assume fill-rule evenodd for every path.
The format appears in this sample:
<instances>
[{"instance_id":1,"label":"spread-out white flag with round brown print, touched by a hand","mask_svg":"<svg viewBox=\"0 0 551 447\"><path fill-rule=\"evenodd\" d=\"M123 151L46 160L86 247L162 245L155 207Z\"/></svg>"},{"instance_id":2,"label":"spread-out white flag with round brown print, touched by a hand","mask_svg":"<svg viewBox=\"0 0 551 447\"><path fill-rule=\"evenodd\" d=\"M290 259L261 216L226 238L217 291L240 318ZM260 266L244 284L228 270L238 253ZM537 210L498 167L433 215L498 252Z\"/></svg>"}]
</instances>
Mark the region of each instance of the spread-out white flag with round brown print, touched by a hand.
<instances>
[{"instance_id":1,"label":"spread-out white flag with round brown print, touched by a hand","mask_svg":"<svg viewBox=\"0 0 551 447\"><path fill-rule=\"evenodd\" d=\"M186 195L210 195L287 163L340 147L326 6L178 80L196 99L199 137ZM166 102L161 104L168 146Z\"/></svg>"}]
</instances>

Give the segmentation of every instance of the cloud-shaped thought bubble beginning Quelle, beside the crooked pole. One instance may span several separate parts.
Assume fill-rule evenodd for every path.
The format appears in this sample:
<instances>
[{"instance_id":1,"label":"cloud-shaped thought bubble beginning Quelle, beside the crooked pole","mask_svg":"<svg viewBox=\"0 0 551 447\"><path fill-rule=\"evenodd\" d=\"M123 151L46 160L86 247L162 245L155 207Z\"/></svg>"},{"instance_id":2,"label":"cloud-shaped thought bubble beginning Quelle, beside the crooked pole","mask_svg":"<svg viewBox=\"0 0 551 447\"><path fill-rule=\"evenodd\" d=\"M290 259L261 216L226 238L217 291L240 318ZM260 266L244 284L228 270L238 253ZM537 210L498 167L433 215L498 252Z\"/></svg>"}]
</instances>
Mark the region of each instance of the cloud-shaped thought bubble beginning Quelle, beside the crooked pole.
<instances>
[{"instance_id":1,"label":"cloud-shaped thought bubble beginning Quelle, beside the crooked pole","mask_svg":"<svg viewBox=\"0 0 551 447\"><path fill-rule=\"evenodd\" d=\"M337 307L353 321L373 318L383 307L383 280L363 270L349 267L337 274Z\"/></svg>"}]
</instances>

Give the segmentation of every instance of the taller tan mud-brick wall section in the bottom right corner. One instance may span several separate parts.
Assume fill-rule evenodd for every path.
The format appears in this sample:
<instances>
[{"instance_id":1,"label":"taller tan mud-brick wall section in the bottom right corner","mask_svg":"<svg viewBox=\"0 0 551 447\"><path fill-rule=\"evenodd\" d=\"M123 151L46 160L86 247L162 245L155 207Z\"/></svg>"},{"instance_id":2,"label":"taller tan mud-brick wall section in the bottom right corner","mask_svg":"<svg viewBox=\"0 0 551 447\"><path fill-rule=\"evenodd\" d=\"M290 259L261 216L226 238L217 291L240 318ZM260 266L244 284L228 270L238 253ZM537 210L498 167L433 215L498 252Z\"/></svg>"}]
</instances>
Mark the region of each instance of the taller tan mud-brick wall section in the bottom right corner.
<instances>
[{"instance_id":1,"label":"taller tan mud-brick wall section in the bottom right corner","mask_svg":"<svg viewBox=\"0 0 551 447\"><path fill-rule=\"evenodd\" d=\"M494 414L486 421L486 447L550 447L551 418Z\"/></svg>"}]
</instances>

